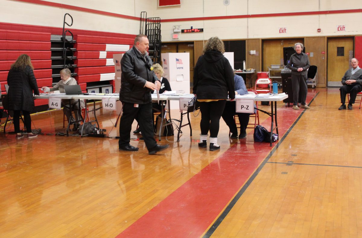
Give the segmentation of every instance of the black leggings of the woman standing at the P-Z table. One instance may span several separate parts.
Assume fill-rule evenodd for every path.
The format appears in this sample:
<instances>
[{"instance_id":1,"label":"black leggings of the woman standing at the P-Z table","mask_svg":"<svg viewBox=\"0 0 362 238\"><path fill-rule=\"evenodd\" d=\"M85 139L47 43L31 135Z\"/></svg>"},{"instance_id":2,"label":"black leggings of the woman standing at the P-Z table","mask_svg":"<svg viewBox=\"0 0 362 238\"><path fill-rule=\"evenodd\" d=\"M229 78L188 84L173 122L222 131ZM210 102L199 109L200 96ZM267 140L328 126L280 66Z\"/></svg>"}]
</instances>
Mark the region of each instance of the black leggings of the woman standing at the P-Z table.
<instances>
[{"instance_id":1,"label":"black leggings of the woman standing at the P-Z table","mask_svg":"<svg viewBox=\"0 0 362 238\"><path fill-rule=\"evenodd\" d=\"M220 117L223 114L226 100L200 102L201 121L200 129L202 135L218 137Z\"/></svg>"}]
</instances>

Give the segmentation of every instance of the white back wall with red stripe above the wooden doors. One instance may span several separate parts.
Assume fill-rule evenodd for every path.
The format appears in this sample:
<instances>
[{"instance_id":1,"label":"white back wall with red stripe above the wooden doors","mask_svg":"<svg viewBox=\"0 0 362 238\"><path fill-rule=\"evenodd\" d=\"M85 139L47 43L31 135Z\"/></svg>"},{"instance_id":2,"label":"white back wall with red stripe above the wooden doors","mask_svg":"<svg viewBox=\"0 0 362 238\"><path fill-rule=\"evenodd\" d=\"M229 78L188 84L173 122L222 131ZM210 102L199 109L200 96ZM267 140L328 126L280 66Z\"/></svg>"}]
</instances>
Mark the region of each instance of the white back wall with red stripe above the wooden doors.
<instances>
[{"instance_id":1,"label":"white back wall with red stripe above the wooden doors","mask_svg":"<svg viewBox=\"0 0 362 238\"><path fill-rule=\"evenodd\" d=\"M224 6L222 0L183 0L181 6L156 7L155 14L161 16L161 19L177 19L361 8L362 1L352 0L343 1L343 4L337 0L230 0L228 6ZM213 36L221 39L344 36L362 34L362 13L163 22L163 41L173 41L174 25L181 25L181 29L189 29L191 26L204 29L203 33L181 33L178 41L207 40ZM345 25L346 30L337 32L337 25ZM279 33L279 28L286 28L286 33ZM320 33L317 32L318 28L321 28Z\"/></svg>"}]
</instances>

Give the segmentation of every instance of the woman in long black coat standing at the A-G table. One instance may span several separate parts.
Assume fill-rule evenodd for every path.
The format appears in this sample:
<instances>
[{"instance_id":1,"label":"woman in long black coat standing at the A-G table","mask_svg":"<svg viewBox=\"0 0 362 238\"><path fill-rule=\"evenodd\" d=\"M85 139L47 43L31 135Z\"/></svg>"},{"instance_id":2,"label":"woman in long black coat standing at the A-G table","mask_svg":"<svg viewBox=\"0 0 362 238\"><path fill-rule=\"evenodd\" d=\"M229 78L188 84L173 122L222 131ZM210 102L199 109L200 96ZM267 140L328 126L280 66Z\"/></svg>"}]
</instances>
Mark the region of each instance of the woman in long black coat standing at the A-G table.
<instances>
[{"instance_id":1,"label":"woman in long black coat standing at the A-G table","mask_svg":"<svg viewBox=\"0 0 362 238\"><path fill-rule=\"evenodd\" d=\"M24 137L20 133L20 111L24 115L28 138L37 137L37 134L31 133L30 111L34 109L33 91L35 95L39 95L39 89L29 55L20 55L15 63L11 65L7 81L9 85L9 110L14 111L13 123L15 133L17 133L16 138Z\"/></svg>"}]
</instances>

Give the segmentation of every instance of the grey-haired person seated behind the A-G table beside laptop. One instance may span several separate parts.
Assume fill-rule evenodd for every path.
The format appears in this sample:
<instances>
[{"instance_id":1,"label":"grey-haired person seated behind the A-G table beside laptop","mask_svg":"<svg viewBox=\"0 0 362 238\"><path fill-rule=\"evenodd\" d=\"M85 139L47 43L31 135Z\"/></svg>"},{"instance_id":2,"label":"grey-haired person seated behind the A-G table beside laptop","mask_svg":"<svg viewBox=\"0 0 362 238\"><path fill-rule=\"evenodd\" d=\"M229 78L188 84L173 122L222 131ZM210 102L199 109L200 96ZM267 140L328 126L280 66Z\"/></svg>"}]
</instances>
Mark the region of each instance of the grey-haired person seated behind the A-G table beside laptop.
<instances>
[{"instance_id":1,"label":"grey-haired person seated behind the A-G table beside laptop","mask_svg":"<svg viewBox=\"0 0 362 238\"><path fill-rule=\"evenodd\" d=\"M69 68L63 68L60 70L60 81L54 85L52 88L42 87L44 92L49 93L64 93L64 85L77 85L77 81L72 78L72 73L70 72ZM76 131L79 128L79 124L81 121L81 116L79 113L79 103L77 99L71 99L71 108L69 108L69 99L62 100L63 112L64 115L67 116L68 121L75 122L73 131ZM80 100L80 109L85 107L84 100ZM72 111L74 111L75 119L72 115Z\"/></svg>"}]
</instances>

